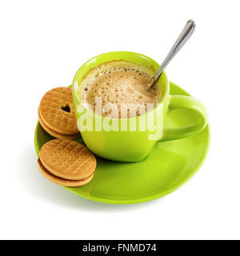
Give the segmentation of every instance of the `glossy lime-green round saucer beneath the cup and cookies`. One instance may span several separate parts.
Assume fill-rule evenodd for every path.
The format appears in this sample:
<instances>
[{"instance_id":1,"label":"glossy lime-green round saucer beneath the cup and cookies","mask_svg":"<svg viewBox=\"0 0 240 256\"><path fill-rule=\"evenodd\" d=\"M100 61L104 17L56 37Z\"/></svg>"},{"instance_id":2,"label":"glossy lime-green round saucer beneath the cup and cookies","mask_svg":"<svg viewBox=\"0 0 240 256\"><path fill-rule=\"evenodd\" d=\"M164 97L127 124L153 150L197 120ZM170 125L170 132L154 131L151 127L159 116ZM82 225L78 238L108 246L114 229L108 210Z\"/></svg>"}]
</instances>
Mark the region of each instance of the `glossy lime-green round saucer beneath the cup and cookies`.
<instances>
[{"instance_id":1,"label":"glossy lime-green round saucer beneath the cup and cookies","mask_svg":"<svg viewBox=\"0 0 240 256\"><path fill-rule=\"evenodd\" d=\"M190 95L170 83L170 94ZM192 110L174 110L167 115L166 127L192 123ZM197 117L196 117L197 118ZM53 139L39 123L34 134L37 154L42 145ZM78 142L82 142L79 139ZM170 142L158 142L141 162L112 162L97 158L92 181L66 190L97 202L126 204L161 198L177 190L202 166L210 147L210 128L201 133ZM37 165L37 161L36 161Z\"/></svg>"}]
</instances>

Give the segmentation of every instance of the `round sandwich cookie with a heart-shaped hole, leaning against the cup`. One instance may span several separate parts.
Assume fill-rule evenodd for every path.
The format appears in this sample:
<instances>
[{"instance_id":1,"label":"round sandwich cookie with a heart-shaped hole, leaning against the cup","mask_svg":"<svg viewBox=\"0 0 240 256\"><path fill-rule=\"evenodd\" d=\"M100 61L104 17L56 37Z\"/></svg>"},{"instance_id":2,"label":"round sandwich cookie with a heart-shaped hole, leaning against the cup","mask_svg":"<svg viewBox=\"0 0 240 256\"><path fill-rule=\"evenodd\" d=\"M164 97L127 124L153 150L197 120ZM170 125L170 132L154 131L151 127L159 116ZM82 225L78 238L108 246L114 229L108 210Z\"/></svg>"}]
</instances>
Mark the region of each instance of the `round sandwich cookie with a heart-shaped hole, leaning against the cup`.
<instances>
[{"instance_id":1,"label":"round sandwich cookie with a heart-shaped hole, leaning against the cup","mask_svg":"<svg viewBox=\"0 0 240 256\"><path fill-rule=\"evenodd\" d=\"M55 138L81 137L77 128L70 87L54 88L42 97L38 108L38 120L42 128Z\"/></svg>"}]
</instances>

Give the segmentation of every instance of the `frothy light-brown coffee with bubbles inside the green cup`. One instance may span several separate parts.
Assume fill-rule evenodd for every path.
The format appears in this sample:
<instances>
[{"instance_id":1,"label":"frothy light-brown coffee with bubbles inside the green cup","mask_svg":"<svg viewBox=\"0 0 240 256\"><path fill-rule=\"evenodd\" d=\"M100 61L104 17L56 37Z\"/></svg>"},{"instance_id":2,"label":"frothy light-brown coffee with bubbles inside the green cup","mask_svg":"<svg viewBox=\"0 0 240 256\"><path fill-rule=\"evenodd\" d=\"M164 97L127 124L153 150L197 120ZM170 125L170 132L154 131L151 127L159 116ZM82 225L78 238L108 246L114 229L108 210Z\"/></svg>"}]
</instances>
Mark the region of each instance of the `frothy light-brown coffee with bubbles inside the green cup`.
<instances>
[{"instance_id":1,"label":"frothy light-brown coffee with bubbles inside the green cup","mask_svg":"<svg viewBox=\"0 0 240 256\"><path fill-rule=\"evenodd\" d=\"M126 61L106 62L90 70L81 83L81 102L108 118L132 118L160 102L157 84L146 90L154 70Z\"/></svg>"}]
</instances>

